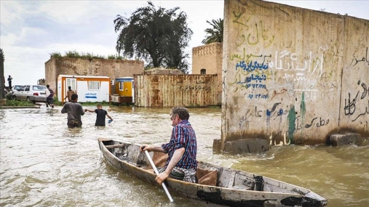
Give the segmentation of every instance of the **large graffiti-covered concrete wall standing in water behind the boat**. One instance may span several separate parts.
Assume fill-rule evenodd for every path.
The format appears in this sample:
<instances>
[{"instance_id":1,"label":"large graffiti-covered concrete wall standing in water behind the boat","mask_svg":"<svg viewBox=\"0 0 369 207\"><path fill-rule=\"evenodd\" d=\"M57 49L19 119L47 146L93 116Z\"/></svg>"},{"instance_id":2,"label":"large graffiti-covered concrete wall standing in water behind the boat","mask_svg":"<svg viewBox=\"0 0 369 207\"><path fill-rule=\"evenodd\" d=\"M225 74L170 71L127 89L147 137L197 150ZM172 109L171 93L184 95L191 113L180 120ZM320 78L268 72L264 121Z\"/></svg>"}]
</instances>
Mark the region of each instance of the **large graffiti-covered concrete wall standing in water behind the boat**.
<instances>
[{"instance_id":1,"label":"large graffiti-covered concrete wall standing in water behind the boat","mask_svg":"<svg viewBox=\"0 0 369 207\"><path fill-rule=\"evenodd\" d=\"M254 138L326 143L343 126L368 134L369 65L353 57L369 58L368 20L263 1L224 9L221 150Z\"/></svg>"}]
</instances>

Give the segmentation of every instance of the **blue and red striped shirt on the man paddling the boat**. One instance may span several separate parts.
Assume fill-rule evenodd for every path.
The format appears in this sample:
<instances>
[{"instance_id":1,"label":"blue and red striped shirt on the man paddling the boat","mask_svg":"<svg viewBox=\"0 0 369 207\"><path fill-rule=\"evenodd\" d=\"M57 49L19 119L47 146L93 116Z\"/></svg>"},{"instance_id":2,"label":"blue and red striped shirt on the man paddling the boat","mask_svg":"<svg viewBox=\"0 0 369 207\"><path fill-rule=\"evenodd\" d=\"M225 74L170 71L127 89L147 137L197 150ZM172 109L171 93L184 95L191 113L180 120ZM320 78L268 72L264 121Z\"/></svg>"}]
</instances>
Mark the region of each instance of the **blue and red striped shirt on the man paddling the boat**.
<instances>
[{"instance_id":1,"label":"blue and red striped shirt on the man paddling the boat","mask_svg":"<svg viewBox=\"0 0 369 207\"><path fill-rule=\"evenodd\" d=\"M181 167L185 169L197 169L196 134L188 120L182 120L177 125L175 125L172 130L170 142L162 145L165 153L168 153L168 159L165 163L165 168L167 168L170 160L172 159L174 151L182 147L185 148L185 153L183 153L182 158L175 165L175 167Z\"/></svg>"}]
</instances>

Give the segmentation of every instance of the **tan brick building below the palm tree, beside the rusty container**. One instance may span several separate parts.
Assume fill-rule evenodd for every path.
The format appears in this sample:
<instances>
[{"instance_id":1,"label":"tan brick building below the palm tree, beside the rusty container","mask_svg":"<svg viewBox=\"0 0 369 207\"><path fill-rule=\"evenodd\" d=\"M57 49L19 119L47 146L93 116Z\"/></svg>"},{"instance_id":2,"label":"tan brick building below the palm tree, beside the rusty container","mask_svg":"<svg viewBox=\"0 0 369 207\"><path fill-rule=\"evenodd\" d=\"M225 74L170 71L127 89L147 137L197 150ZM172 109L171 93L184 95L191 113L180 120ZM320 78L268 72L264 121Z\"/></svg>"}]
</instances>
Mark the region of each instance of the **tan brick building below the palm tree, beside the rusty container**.
<instances>
[{"instance_id":1,"label":"tan brick building below the palm tree, beside the rusty container","mask_svg":"<svg viewBox=\"0 0 369 207\"><path fill-rule=\"evenodd\" d=\"M217 74L217 101L222 103L222 62L223 43L211 43L192 48L192 74L201 74L201 69L206 74Z\"/></svg>"}]
</instances>

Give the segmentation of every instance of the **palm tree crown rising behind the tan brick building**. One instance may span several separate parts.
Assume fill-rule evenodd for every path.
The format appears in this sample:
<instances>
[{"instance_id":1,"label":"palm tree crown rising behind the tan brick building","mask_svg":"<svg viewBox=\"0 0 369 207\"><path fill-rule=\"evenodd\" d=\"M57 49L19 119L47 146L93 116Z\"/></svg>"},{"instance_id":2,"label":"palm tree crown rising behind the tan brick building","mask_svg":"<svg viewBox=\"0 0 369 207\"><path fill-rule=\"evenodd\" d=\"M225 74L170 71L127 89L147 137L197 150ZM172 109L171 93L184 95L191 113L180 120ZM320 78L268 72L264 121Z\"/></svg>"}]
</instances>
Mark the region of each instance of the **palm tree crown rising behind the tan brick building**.
<instances>
[{"instance_id":1,"label":"palm tree crown rising behind the tan brick building","mask_svg":"<svg viewBox=\"0 0 369 207\"><path fill-rule=\"evenodd\" d=\"M201 43L223 43L223 19L213 19L211 22L206 22L209 23L212 28L207 28L204 30L207 33L207 36Z\"/></svg>"}]
</instances>

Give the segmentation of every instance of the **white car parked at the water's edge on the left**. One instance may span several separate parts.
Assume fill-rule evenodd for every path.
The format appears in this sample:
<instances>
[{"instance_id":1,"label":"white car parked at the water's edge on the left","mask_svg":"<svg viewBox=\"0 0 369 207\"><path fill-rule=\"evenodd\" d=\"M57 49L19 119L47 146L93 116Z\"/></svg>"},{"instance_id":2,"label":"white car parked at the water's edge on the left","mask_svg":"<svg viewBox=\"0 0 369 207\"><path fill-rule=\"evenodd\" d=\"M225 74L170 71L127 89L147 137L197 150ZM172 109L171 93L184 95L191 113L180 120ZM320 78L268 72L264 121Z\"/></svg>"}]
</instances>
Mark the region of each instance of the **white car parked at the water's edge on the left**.
<instances>
[{"instance_id":1,"label":"white car parked at the water's edge on the left","mask_svg":"<svg viewBox=\"0 0 369 207\"><path fill-rule=\"evenodd\" d=\"M12 98L15 100L27 100L30 102L45 102L50 94L46 86L42 85L24 85L13 92Z\"/></svg>"}]
</instances>

